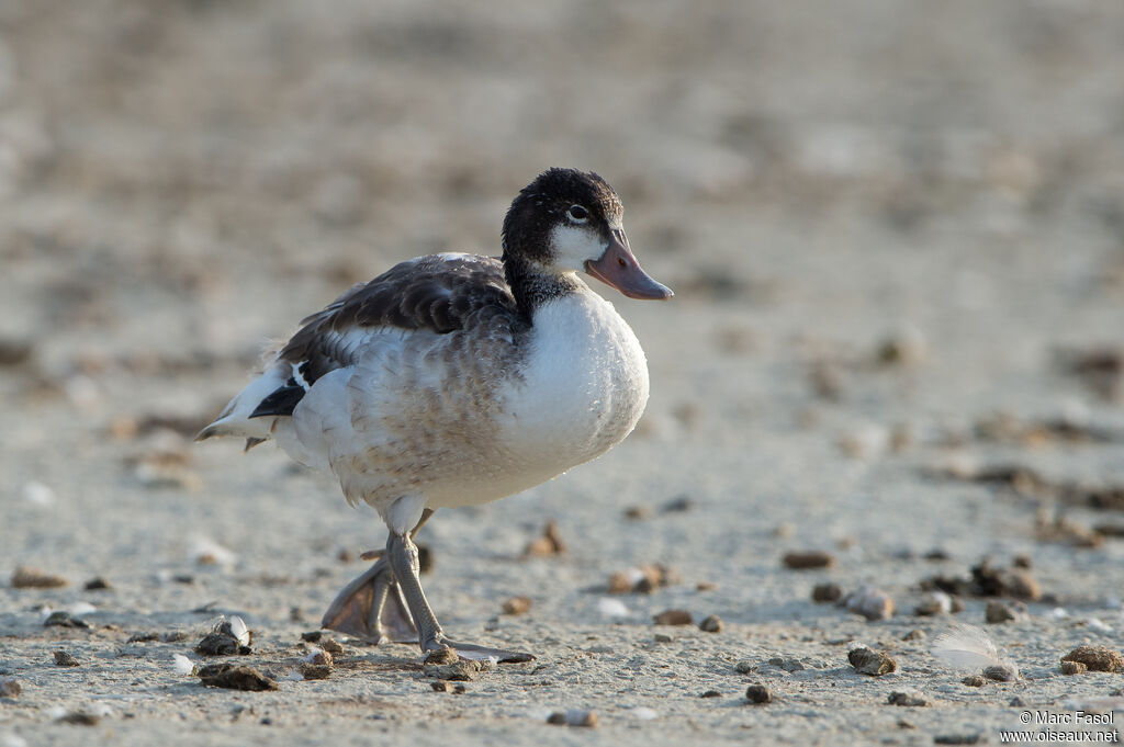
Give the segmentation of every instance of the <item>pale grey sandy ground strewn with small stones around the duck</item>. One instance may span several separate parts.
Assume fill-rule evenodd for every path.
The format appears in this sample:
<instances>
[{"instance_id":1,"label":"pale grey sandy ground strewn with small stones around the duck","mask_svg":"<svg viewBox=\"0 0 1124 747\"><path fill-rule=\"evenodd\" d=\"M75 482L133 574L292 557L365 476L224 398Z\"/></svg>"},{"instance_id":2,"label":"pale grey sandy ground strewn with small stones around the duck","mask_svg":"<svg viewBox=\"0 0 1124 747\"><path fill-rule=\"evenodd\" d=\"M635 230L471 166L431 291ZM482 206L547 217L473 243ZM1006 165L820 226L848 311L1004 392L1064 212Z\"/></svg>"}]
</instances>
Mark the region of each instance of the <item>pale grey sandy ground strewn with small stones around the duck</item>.
<instances>
[{"instance_id":1,"label":"pale grey sandy ground strewn with small stones around the duck","mask_svg":"<svg viewBox=\"0 0 1124 747\"><path fill-rule=\"evenodd\" d=\"M1059 658L1124 647L1122 38L1095 0L0 3L0 747L999 744L1077 708L1118 732L1124 677ZM617 188L677 298L599 289L652 372L623 446L420 537L446 629L538 658L435 693L415 649L343 639L329 678L284 678L383 530L189 436L348 284L496 253L549 165ZM566 552L524 558L550 519ZM806 549L833 565L785 566ZM924 580L1021 556L1018 620L915 614ZM678 580L606 592L646 563ZM723 630L653 625L676 608ZM174 669L219 614L278 691ZM930 653L955 621L1021 677L962 684ZM856 673L859 644L898 671ZM600 726L546 722L568 709Z\"/></svg>"}]
</instances>

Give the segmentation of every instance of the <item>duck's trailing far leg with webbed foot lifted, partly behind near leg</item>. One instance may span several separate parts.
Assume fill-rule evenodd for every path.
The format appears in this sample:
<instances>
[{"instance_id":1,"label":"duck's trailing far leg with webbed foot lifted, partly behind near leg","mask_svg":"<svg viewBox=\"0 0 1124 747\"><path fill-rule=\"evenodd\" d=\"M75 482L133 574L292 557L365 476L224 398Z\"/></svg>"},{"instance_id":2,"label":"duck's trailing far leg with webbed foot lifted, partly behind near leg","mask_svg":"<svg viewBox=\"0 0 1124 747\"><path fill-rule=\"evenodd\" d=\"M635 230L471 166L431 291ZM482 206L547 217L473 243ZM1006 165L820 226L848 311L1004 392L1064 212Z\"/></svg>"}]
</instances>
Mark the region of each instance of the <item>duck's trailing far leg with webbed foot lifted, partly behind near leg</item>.
<instances>
[{"instance_id":1,"label":"duck's trailing far leg with webbed foot lifted, partly behind near leg","mask_svg":"<svg viewBox=\"0 0 1124 747\"><path fill-rule=\"evenodd\" d=\"M410 532L411 538L432 516L433 510L426 509ZM372 644L384 640L413 644L418 640L414 619L386 554L363 575L344 586L324 613L320 627Z\"/></svg>"}]
</instances>

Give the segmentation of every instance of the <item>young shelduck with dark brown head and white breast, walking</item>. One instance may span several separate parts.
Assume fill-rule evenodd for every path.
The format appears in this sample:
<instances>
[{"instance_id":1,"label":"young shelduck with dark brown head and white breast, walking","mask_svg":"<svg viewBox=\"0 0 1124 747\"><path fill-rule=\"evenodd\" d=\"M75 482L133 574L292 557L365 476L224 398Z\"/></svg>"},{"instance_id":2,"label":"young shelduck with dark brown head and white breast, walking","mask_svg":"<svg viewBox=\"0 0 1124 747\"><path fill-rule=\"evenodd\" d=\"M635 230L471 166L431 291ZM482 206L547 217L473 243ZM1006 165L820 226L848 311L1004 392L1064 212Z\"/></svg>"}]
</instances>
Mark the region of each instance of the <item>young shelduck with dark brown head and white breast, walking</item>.
<instances>
[{"instance_id":1,"label":"young shelduck with dark brown head and white breast, walking","mask_svg":"<svg viewBox=\"0 0 1124 747\"><path fill-rule=\"evenodd\" d=\"M588 274L634 299L669 299L628 246L616 192L595 173L543 172L511 202L499 259L434 254L391 267L301 321L264 373L198 439L275 439L330 470L390 536L323 626L423 653L527 661L445 637L413 539L441 508L511 495L632 431L647 364Z\"/></svg>"}]
</instances>

